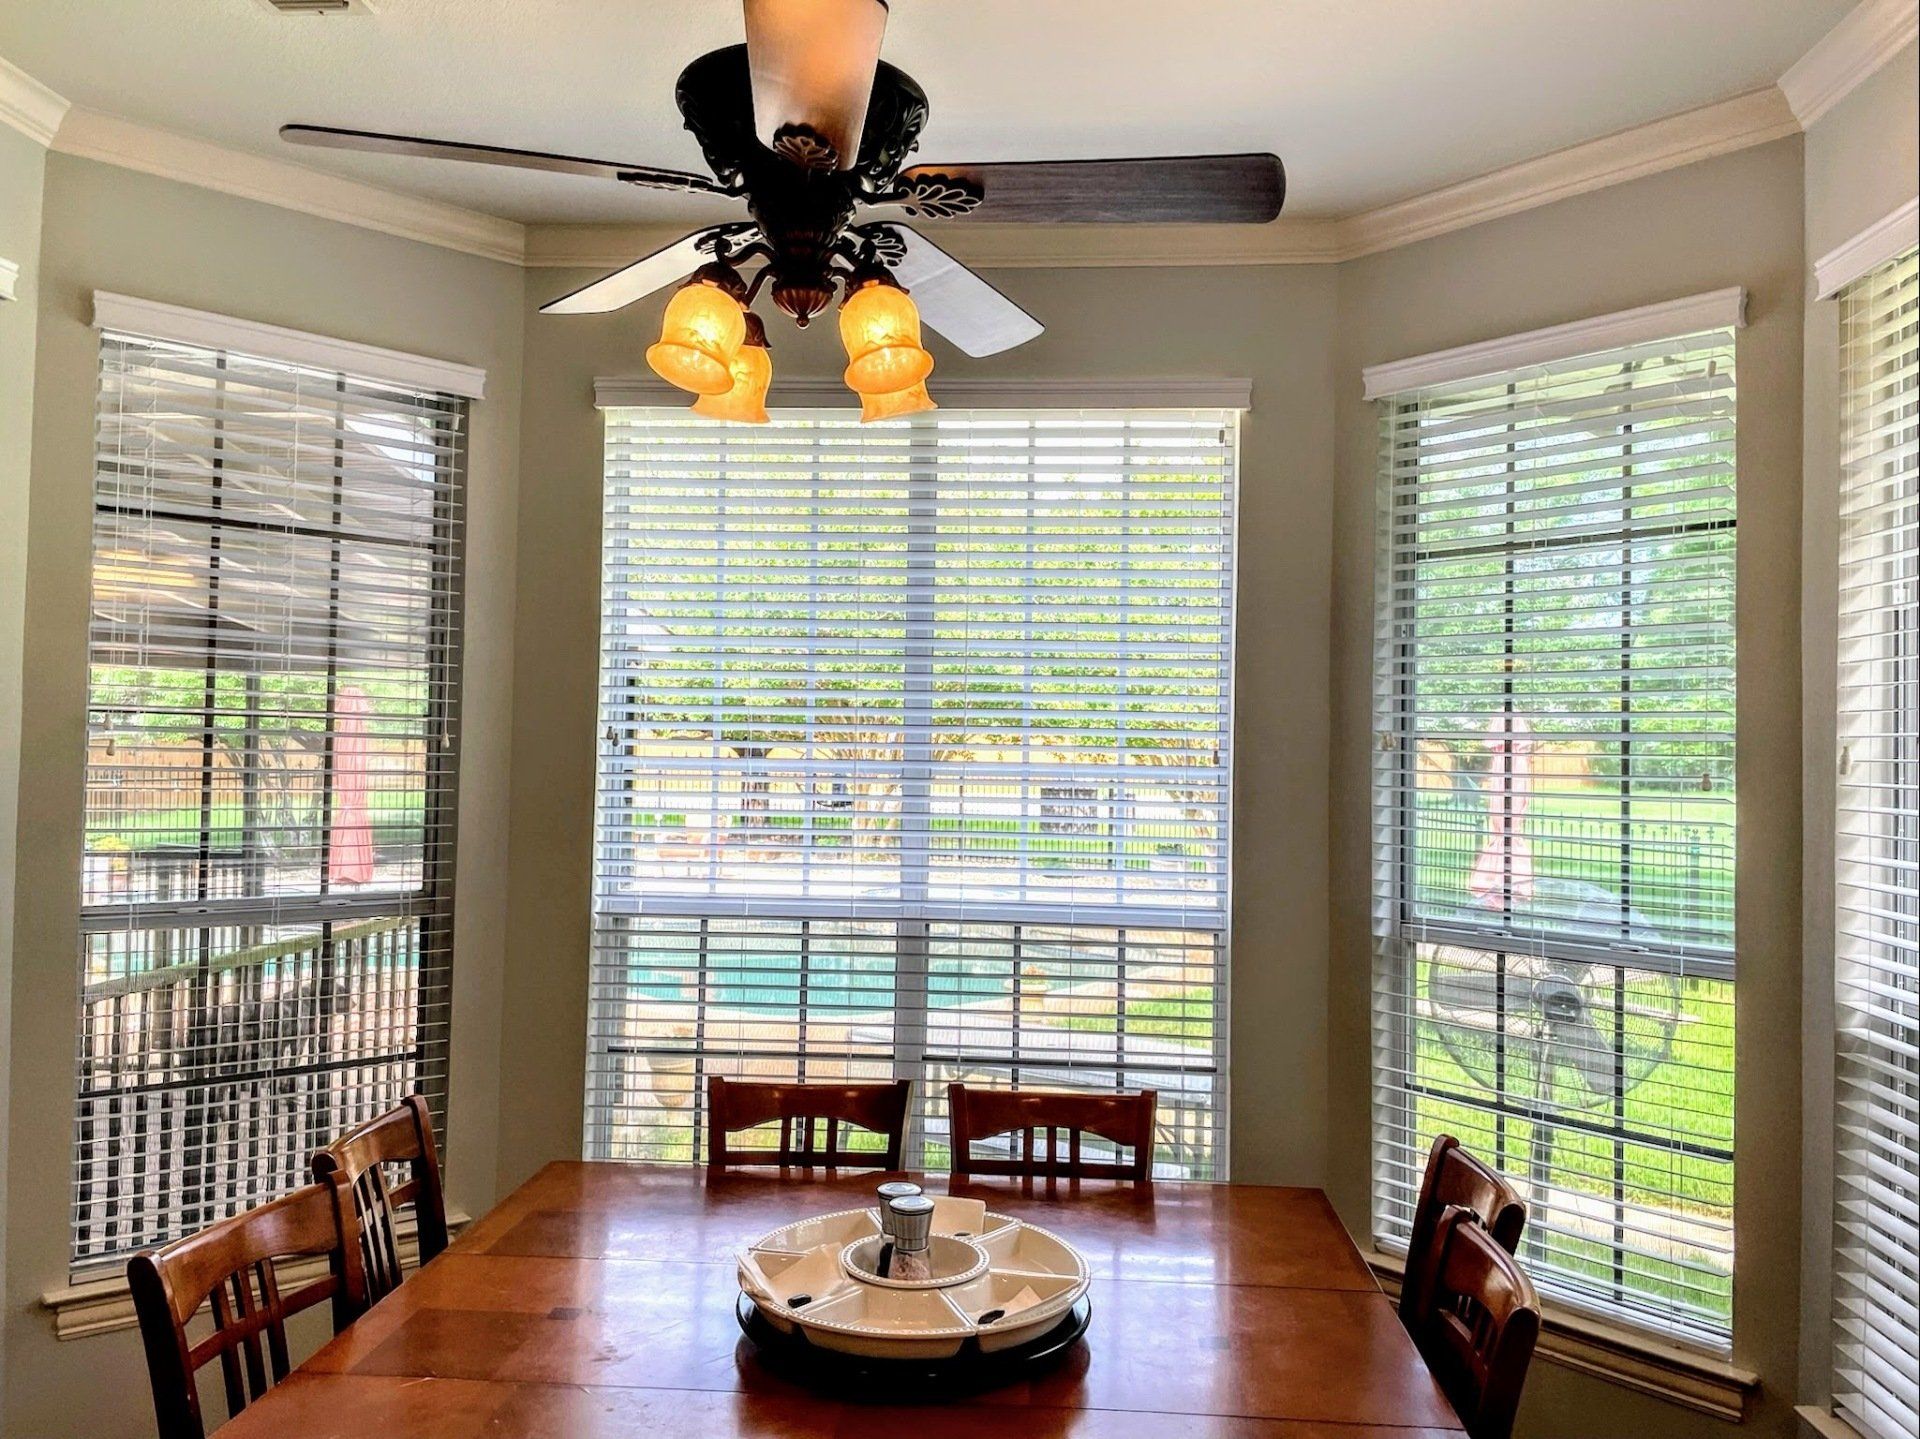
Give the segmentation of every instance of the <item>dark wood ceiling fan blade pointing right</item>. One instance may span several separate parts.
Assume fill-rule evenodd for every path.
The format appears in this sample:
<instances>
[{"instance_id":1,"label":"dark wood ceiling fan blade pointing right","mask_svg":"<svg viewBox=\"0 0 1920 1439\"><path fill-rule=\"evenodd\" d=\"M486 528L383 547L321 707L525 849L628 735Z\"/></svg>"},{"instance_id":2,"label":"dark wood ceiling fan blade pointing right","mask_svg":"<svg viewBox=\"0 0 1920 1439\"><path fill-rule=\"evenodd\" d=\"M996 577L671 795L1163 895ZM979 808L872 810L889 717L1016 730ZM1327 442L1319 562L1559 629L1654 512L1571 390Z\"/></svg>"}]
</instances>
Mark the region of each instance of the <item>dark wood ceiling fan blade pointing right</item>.
<instances>
[{"instance_id":1,"label":"dark wood ceiling fan blade pointing right","mask_svg":"<svg viewBox=\"0 0 1920 1439\"><path fill-rule=\"evenodd\" d=\"M1265 225L1286 200L1286 167L1279 156L914 165L895 200L914 215L1016 225Z\"/></svg>"}]
</instances>

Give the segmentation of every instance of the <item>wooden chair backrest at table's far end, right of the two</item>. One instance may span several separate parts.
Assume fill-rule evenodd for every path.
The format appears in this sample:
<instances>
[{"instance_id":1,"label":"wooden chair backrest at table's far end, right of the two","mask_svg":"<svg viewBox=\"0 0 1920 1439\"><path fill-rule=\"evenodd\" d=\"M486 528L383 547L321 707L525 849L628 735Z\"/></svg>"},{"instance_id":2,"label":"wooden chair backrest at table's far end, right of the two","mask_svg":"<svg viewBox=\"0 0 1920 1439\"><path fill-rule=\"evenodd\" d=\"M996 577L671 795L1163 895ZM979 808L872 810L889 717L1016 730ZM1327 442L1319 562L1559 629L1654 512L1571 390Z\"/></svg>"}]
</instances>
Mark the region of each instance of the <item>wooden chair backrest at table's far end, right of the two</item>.
<instances>
[{"instance_id":1,"label":"wooden chair backrest at table's far end, right of the two","mask_svg":"<svg viewBox=\"0 0 1920 1439\"><path fill-rule=\"evenodd\" d=\"M1044 1089L977 1089L947 1085L947 1114L952 1132L952 1172L1016 1174L1060 1180L1139 1180L1154 1178L1154 1089L1121 1095L1068 1095ZM1010 1159L975 1157L973 1145L1000 1134L1018 1134ZM1035 1137L1046 1135L1046 1153L1037 1153ZM1062 1157L1060 1135L1068 1137ZM1083 1135L1100 1135L1133 1151L1131 1159L1083 1159Z\"/></svg>"}]
</instances>

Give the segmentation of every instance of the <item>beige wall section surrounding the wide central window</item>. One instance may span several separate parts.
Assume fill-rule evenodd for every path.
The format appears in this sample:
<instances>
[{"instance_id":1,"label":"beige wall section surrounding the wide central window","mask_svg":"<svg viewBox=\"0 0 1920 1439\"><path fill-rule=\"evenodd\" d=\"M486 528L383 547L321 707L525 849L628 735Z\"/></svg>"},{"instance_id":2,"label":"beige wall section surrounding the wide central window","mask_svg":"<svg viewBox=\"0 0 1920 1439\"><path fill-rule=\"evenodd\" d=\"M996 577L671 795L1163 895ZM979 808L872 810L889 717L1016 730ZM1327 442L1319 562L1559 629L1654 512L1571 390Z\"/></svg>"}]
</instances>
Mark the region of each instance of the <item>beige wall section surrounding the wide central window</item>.
<instances>
[{"instance_id":1,"label":"beige wall section surrounding the wide central window","mask_svg":"<svg viewBox=\"0 0 1920 1439\"><path fill-rule=\"evenodd\" d=\"M528 304L591 273L532 271ZM1327 563L1334 271L1000 271L1046 321L970 378L1252 378L1242 428L1235 717L1233 1168L1325 1172ZM501 1049L501 1185L580 1153L599 644L601 423L595 375L643 375L659 305L526 323L513 861ZM780 378L837 377L833 327L774 327Z\"/></svg>"}]
</instances>

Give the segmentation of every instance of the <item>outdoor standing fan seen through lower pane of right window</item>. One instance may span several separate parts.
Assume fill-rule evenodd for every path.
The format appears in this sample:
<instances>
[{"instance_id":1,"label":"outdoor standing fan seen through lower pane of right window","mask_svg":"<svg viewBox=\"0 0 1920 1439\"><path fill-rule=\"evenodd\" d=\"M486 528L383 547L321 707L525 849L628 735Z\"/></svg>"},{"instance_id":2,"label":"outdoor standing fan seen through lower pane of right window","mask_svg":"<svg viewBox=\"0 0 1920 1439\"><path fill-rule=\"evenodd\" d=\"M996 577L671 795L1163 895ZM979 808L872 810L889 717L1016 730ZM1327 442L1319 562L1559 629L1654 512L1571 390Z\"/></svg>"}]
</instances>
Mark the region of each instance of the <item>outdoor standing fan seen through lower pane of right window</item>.
<instances>
[{"instance_id":1,"label":"outdoor standing fan seen through lower pane of right window","mask_svg":"<svg viewBox=\"0 0 1920 1439\"><path fill-rule=\"evenodd\" d=\"M1555 1116L1613 1105L1672 1055L1684 1022L1680 982L1642 974L1615 989L1607 964L1542 955L1500 957L1442 945L1434 951L1421 1018L1476 1084L1517 1097L1532 1112L1526 1203L1530 1232L1546 1218Z\"/></svg>"}]
</instances>

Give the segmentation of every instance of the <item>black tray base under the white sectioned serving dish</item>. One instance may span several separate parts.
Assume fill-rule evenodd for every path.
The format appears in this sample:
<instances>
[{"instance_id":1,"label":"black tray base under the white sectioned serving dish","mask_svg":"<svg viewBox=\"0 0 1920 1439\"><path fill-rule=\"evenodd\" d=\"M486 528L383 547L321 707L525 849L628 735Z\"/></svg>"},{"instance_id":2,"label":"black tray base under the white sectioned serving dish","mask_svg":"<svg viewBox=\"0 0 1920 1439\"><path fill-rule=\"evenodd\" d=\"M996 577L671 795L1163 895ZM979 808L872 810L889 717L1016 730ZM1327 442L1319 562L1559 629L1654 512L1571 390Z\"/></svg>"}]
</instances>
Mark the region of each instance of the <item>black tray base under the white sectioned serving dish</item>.
<instances>
[{"instance_id":1,"label":"black tray base under the white sectioned serving dish","mask_svg":"<svg viewBox=\"0 0 1920 1439\"><path fill-rule=\"evenodd\" d=\"M733 1318L758 1349L766 1368L781 1379L791 1379L833 1399L872 1404L937 1404L960 1395L1031 1379L1052 1368L1087 1333L1092 1303L1081 1295L1054 1328L1014 1349L987 1354L981 1353L979 1341L968 1339L960 1353L948 1358L868 1358L822 1349L799 1329L793 1333L776 1329L747 1295L735 1303Z\"/></svg>"}]
</instances>

